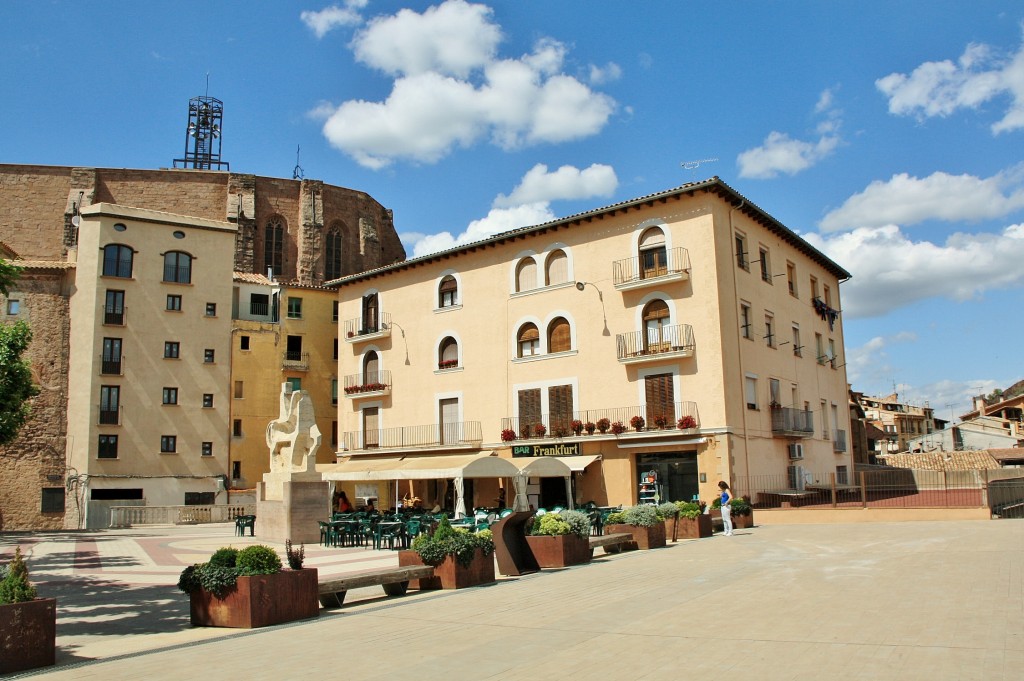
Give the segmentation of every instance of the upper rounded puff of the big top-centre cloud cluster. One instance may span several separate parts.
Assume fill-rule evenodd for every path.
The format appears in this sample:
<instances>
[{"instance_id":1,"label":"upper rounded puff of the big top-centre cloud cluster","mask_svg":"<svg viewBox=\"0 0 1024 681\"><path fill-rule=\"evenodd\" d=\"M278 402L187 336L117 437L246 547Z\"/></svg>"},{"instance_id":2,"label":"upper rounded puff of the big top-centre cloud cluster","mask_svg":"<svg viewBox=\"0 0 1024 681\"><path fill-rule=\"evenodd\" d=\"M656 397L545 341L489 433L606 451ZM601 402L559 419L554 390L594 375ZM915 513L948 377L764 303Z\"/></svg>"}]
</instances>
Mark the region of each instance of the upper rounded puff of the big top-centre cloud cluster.
<instances>
[{"instance_id":1,"label":"upper rounded puff of the big top-centre cloud cluster","mask_svg":"<svg viewBox=\"0 0 1024 681\"><path fill-rule=\"evenodd\" d=\"M355 58L398 76L436 72L467 78L488 63L501 42L493 10L463 0L428 7L422 14L401 9L379 16L352 40Z\"/></svg>"}]
</instances>

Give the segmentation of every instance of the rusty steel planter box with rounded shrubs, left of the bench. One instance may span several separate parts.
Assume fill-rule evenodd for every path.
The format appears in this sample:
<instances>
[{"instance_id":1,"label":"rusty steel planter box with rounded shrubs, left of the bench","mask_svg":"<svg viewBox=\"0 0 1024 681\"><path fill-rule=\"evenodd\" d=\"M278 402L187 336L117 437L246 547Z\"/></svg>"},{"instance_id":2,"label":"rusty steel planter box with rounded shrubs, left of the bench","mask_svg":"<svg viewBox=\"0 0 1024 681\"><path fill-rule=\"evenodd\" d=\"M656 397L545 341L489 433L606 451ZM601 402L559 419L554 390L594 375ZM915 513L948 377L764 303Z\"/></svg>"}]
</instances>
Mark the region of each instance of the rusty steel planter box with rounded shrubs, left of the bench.
<instances>
[{"instance_id":1,"label":"rusty steel planter box with rounded shrubs, left of the bench","mask_svg":"<svg viewBox=\"0 0 1024 681\"><path fill-rule=\"evenodd\" d=\"M223 598L200 589L189 600L194 627L254 629L319 616L316 568L240 577Z\"/></svg>"}]
</instances>

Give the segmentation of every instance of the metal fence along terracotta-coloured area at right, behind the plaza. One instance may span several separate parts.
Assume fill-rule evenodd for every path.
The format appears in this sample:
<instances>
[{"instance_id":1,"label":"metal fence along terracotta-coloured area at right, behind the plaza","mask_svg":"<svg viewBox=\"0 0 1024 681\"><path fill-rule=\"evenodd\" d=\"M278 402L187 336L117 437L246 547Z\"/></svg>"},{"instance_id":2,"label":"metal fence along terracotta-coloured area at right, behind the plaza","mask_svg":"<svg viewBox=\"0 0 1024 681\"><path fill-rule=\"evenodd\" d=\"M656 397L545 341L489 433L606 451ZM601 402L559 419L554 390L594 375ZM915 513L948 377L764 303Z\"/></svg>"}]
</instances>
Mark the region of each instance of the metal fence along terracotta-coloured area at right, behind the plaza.
<instances>
[{"instance_id":1,"label":"metal fence along terracotta-coloured area at right, behind the plaza","mask_svg":"<svg viewBox=\"0 0 1024 681\"><path fill-rule=\"evenodd\" d=\"M998 488L996 495L994 491ZM981 508L1024 517L1024 469L935 471L866 468L851 475L790 466L785 475L734 480L755 508Z\"/></svg>"}]
</instances>

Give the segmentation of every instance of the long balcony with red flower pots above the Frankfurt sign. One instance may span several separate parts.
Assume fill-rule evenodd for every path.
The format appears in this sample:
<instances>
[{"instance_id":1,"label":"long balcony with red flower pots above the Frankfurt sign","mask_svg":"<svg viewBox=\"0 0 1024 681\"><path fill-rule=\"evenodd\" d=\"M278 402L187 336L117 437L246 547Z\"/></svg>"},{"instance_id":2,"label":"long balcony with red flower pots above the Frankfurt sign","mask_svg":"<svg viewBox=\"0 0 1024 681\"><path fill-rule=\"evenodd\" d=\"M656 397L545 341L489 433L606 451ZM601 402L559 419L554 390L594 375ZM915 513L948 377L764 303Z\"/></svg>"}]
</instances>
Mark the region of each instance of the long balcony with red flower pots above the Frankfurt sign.
<instances>
[{"instance_id":1,"label":"long balcony with red flower pots above the Frankfurt sign","mask_svg":"<svg viewBox=\"0 0 1024 681\"><path fill-rule=\"evenodd\" d=\"M561 414L502 419L502 440L541 439L647 433L672 435L695 432L700 427L697 403L681 401L655 409L647 406L617 407Z\"/></svg>"}]
</instances>

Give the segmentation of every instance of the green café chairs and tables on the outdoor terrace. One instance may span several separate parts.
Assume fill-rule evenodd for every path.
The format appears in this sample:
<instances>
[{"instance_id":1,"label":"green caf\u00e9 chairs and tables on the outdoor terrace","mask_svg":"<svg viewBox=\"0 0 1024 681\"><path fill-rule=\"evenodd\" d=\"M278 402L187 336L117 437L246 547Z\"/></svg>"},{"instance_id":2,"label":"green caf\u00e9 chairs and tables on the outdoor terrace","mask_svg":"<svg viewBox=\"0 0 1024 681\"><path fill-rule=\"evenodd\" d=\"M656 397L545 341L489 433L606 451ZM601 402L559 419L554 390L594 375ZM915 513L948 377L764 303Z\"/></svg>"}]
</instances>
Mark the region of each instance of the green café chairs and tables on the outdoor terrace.
<instances>
[{"instance_id":1,"label":"green caf\u00e9 chairs and tables on the outdoor terrace","mask_svg":"<svg viewBox=\"0 0 1024 681\"><path fill-rule=\"evenodd\" d=\"M563 510L561 506L551 509L537 509L538 515L557 513ZM593 503L579 507L577 510L590 516L591 531L594 535L604 533L604 520L620 507L600 507ZM364 547L373 549L398 550L408 549L419 535L432 531L441 518L447 517L453 527L461 527L468 531L489 529L498 520L510 515L510 508L477 508L472 515L456 518L454 513L440 511L437 513L422 509L398 509L389 511L357 511L350 513L333 513L330 520L319 521L319 543L329 547Z\"/></svg>"}]
</instances>

